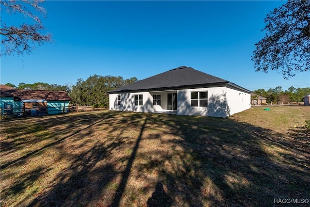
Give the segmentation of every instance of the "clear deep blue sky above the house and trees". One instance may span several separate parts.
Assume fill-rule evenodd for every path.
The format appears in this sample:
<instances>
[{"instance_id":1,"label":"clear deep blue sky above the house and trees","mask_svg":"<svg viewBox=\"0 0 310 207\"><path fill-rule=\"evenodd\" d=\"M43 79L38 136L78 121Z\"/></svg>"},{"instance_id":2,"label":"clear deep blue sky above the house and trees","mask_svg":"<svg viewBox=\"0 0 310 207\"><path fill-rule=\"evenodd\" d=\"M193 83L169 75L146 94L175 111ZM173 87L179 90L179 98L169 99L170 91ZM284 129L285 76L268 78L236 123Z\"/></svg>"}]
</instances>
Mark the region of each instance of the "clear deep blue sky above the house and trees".
<instances>
[{"instance_id":1,"label":"clear deep blue sky above the house and trees","mask_svg":"<svg viewBox=\"0 0 310 207\"><path fill-rule=\"evenodd\" d=\"M255 72L265 16L285 1L54 1L42 21L53 42L2 56L1 84L75 84L96 75L139 80L186 65L249 90L310 87L310 71L284 80ZM17 18L17 19L16 19ZM7 24L30 21L8 16Z\"/></svg>"}]
</instances>

